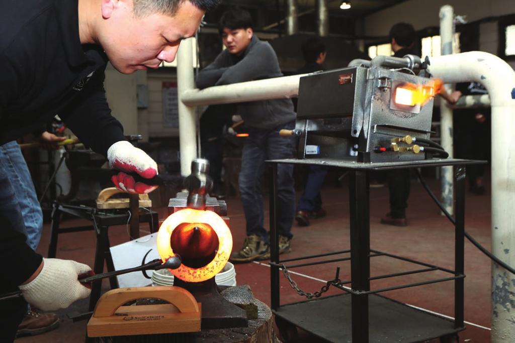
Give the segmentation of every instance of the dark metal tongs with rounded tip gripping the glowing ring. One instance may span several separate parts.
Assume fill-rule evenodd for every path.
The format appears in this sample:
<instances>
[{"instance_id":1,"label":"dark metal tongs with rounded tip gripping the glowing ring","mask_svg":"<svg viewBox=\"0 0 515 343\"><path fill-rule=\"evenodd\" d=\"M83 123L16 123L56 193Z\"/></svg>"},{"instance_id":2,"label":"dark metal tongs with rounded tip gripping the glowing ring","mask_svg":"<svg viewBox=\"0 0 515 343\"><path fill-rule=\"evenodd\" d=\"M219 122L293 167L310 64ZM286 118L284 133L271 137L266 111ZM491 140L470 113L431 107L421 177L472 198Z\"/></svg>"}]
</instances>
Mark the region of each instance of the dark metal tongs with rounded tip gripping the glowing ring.
<instances>
[{"instance_id":1,"label":"dark metal tongs with rounded tip gripping the glowing ring","mask_svg":"<svg viewBox=\"0 0 515 343\"><path fill-rule=\"evenodd\" d=\"M91 282L98 281L102 279L107 279L113 276L132 273L132 272L140 272L142 270L159 270L159 269L177 269L180 267L182 263L182 259L179 255L175 254L174 256L170 256L164 263L162 263L161 259L152 260L148 263L139 265L133 268L114 270L113 272L107 272L102 274L94 274L91 270L88 273L79 274L79 282L84 286L91 288ZM22 296L22 291L16 291L11 293L6 293L0 296L0 301L14 299Z\"/></svg>"}]
</instances>

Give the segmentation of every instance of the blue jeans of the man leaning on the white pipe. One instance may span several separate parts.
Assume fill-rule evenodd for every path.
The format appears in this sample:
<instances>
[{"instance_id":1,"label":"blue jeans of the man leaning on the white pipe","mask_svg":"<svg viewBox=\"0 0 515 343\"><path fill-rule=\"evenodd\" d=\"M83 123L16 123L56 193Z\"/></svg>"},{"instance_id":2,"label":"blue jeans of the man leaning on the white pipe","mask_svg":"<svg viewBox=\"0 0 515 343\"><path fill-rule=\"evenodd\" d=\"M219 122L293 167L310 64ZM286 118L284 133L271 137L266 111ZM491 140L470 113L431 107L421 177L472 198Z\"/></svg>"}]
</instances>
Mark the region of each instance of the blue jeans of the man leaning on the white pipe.
<instances>
[{"instance_id":1,"label":"blue jeans of the man leaning on the white pipe","mask_svg":"<svg viewBox=\"0 0 515 343\"><path fill-rule=\"evenodd\" d=\"M273 130L251 128L245 141L242 154L242 170L239 173L239 192L242 197L243 210L247 223L247 235L258 234L268 242L268 233L263 226L263 197L261 178L265 160L292 158L294 152L293 137L281 137L281 129L293 130L294 122L281 125ZM293 165L277 166L277 229L287 238L291 234L295 214L295 189Z\"/></svg>"}]
</instances>

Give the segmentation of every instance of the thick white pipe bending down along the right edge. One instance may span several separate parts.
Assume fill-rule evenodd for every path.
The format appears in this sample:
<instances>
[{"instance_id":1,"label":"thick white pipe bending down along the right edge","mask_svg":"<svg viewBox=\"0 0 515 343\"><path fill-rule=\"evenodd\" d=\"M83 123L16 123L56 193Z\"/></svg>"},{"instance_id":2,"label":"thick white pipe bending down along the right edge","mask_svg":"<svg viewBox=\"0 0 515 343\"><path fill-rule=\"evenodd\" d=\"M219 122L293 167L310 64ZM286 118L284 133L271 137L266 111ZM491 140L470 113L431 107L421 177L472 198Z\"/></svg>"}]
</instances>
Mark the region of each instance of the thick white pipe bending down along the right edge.
<instances>
[{"instance_id":1,"label":"thick white pipe bending down along the right edge","mask_svg":"<svg viewBox=\"0 0 515 343\"><path fill-rule=\"evenodd\" d=\"M487 52L431 58L428 70L444 82L482 83L492 108L492 252L515 266L515 71ZM515 341L515 275L492 263L492 342Z\"/></svg>"}]
</instances>

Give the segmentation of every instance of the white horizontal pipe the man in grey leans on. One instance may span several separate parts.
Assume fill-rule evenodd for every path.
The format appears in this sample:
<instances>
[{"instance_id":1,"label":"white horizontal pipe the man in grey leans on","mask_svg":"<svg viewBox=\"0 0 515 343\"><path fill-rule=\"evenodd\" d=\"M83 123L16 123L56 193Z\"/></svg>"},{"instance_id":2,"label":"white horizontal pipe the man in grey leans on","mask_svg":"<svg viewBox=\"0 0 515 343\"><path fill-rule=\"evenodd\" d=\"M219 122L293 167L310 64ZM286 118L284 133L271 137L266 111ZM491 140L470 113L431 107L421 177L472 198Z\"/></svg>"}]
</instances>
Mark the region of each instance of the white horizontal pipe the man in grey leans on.
<instances>
[{"instance_id":1,"label":"white horizontal pipe the man in grey leans on","mask_svg":"<svg viewBox=\"0 0 515 343\"><path fill-rule=\"evenodd\" d=\"M203 106L224 103L294 98L299 95L299 79L302 75L233 83L202 89L188 89L181 94L186 106Z\"/></svg>"}]
</instances>

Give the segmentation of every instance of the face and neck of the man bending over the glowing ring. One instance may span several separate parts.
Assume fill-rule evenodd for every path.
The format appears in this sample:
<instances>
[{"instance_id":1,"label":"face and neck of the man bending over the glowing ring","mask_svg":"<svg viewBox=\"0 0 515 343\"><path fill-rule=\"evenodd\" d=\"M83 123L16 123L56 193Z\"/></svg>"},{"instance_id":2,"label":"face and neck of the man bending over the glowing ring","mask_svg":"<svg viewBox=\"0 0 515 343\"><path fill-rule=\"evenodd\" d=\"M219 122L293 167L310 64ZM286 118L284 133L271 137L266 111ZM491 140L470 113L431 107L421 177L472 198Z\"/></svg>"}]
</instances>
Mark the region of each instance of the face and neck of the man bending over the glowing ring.
<instances>
[{"instance_id":1,"label":"face and neck of the man bending over the glowing ring","mask_svg":"<svg viewBox=\"0 0 515 343\"><path fill-rule=\"evenodd\" d=\"M111 64L121 73L156 69L175 60L181 40L197 31L204 11L185 1L174 16L134 17L132 0L103 0L103 29L98 39Z\"/></svg>"}]
</instances>

